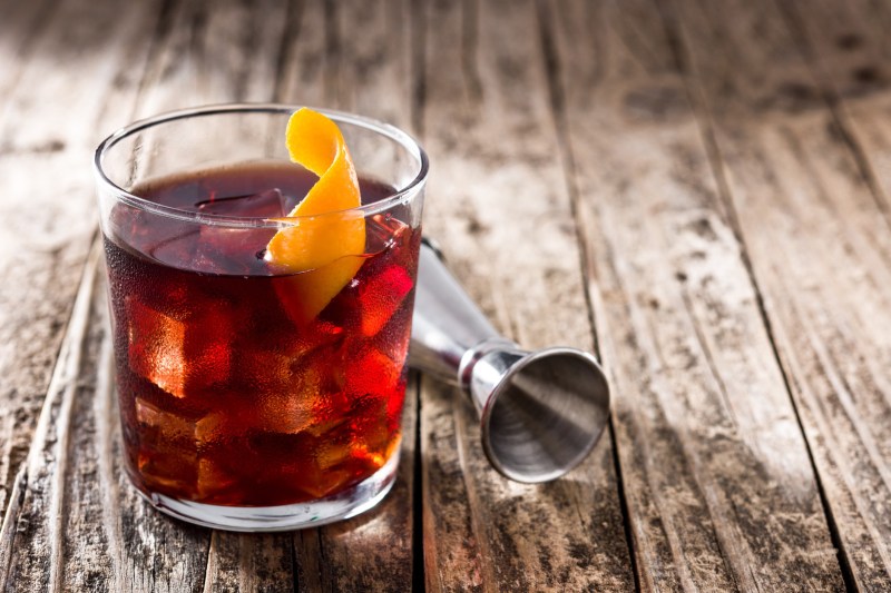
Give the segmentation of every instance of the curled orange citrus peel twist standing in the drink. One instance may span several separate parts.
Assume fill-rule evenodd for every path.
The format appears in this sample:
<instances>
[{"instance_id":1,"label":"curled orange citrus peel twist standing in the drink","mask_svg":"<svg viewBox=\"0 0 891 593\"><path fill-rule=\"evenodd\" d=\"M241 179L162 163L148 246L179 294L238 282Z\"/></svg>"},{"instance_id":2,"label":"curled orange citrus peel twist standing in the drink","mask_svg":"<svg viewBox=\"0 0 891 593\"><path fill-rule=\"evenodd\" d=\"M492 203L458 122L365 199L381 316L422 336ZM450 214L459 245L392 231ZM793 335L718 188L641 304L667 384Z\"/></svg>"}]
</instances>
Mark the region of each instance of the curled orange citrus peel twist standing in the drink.
<instances>
[{"instance_id":1,"label":"curled orange citrus peel twist standing in the drink","mask_svg":"<svg viewBox=\"0 0 891 593\"><path fill-rule=\"evenodd\" d=\"M294 162L319 176L303 200L281 219L266 246L266 260L293 273L291 296L283 296L297 323L314 319L353 279L365 250L365 219L359 180L336 123L311 109L295 111L287 122L287 150ZM352 257L351 257L352 256ZM301 273L301 274L297 274Z\"/></svg>"}]
</instances>

